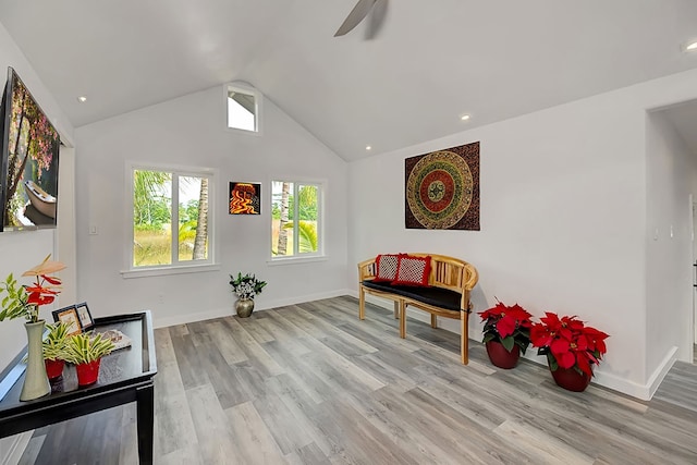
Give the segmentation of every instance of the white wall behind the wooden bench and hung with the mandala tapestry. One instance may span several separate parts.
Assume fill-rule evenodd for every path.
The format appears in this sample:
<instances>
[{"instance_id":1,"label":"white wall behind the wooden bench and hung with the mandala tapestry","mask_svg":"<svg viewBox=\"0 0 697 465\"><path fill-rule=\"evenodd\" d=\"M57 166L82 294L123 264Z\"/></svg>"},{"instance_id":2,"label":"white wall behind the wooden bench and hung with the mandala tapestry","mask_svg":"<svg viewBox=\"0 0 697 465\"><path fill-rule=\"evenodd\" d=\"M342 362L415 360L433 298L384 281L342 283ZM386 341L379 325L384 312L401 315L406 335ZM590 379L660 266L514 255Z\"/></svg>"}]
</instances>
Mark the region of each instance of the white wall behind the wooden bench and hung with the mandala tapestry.
<instances>
[{"instance_id":1,"label":"white wall behind the wooden bench and hung with the mandala tapestry","mask_svg":"<svg viewBox=\"0 0 697 465\"><path fill-rule=\"evenodd\" d=\"M611 335L596 381L650 396L672 343L647 344L647 294L668 291L645 292L646 110L695 98L695 79L681 73L351 163L350 261L409 250L468 260L480 272L475 311L496 296L536 316L578 315ZM404 159L475 140L481 231L405 230ZM375 185L390 188L376 198ZM473 339L480 329L473 315Z\"/></svg>"}]
</instances>

